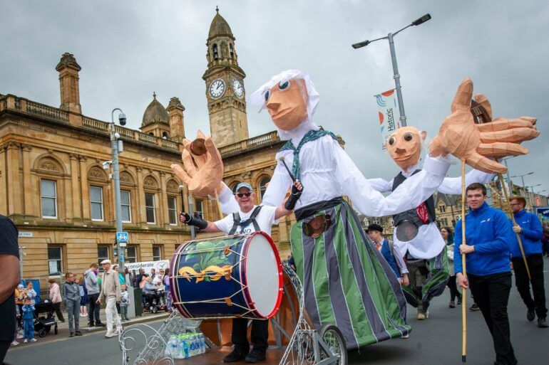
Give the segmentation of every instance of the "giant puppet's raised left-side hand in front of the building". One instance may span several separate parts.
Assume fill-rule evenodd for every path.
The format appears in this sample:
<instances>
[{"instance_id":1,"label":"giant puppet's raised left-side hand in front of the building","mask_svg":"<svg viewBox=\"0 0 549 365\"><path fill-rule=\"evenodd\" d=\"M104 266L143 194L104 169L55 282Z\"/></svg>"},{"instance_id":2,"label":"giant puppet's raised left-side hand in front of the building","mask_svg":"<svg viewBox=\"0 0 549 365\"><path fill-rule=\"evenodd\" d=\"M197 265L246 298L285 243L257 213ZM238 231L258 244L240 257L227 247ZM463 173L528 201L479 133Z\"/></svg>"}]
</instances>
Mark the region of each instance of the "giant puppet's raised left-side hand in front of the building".
<instances>
[{"instance_id":1,"label":"giant puppet's raised left-side hand in front of the building","mask_svg":"<svg viewBox=\"0 0 549 365\"><path fill-rule=\"evenodd\" d=\"M223 188L223 162L221 154L215 147L212 137L206 137L202 131L197 132L197 138L191 142L183 140L181 160L183 166L172 164L173 173L188 186L194 196L213 196Z\"/></svg>"}]
</instances>

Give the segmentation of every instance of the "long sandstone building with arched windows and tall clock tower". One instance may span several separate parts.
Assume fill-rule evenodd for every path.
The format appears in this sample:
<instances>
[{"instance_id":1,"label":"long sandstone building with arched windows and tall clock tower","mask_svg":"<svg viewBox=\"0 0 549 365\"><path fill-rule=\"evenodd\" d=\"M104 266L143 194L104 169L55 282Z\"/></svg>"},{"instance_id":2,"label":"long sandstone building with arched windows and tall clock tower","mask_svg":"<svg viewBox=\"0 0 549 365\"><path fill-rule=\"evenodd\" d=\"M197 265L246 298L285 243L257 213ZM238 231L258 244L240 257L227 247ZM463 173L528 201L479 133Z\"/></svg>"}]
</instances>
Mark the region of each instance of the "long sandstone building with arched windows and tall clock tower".
<instances>
[{"instance_id":1,"label":"long sandstone building with arched windows and tall clock tower","mask_svg":"<svg viewBox=\"0 0 549 365\"><path fill-rule=\"evenodd\" d=\"M245 73L237 63L235 37L218 12L206 57L210 128L225 164L224 180L231 188L249 182L260 203L283 142L277 132L248 137ZM111 171L103 169L111 160L110 123L83 115L81 67L73 55L63 54L56 70L59 107L0 95L0 213L19 228L24 278L42 282L68 271L81 275L103 258L116 260L114 184ZM188 199L181 201L180 181L170 169L183 150L184 111L177 97L164 107L153 95L140 130L114 126L124 143L120 191L123 229L130 238L126 262L170 258L190 239L188 227L177 220L182 203L188 211ZM195 198L194 206L207 220L220 218L213 201ZM283 218L272 230L284 255L293 221L293 216Z\"/></svg>"}]
</instances>

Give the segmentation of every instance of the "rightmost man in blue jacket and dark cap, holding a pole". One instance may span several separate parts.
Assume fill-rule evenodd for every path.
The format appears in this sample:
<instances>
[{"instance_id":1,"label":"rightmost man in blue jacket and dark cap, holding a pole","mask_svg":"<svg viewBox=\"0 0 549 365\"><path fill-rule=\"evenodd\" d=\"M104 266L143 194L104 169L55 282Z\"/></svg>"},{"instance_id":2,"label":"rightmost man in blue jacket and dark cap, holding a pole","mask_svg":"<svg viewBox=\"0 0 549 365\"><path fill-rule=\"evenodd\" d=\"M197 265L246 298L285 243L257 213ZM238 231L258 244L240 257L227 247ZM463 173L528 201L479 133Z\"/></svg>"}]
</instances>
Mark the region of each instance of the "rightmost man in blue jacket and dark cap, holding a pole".
<instances>
[{"instance_id":1,"label":"rightmost man in blue jacket and dark cap, holding a pole","mask_svg":"<svg viewBox=\"0 0 549 365\"><path fill-rule=\"evenodd\" d=\"M524 265L522 253L518 246L516 235L511 240L511 261L513 270L515 270L515 285L523 298L523 302L528 308L526 318L529 321L535 319L538 314L538 327L547 328L547 308L545 307L545 287L543 287L543 229L538 216L528 213L524 210L526 200L522 196L515 196L510 200L511 210L515 216L516 225L513 231L520 235L520 241L523 243L524 254L530 270L530 281L532 282L532 292L534 299L530 295L530 282L528 273ZM535 311L535 312L534 312Z\"/></svg>"}]
</instances>

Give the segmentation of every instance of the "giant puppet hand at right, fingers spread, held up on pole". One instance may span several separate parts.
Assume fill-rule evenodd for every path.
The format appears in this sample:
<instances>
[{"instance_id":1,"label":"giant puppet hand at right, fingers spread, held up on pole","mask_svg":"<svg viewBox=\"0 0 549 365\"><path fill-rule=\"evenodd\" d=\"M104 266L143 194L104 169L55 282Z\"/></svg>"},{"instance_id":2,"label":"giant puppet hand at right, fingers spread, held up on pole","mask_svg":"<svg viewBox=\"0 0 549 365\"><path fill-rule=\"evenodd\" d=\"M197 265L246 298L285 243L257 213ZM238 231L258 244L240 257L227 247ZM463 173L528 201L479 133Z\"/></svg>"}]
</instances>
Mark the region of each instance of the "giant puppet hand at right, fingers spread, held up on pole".
<instances>
[{"instance_id":1,"label":"giant puppet hand at right, fingers spread, held up on pole","mask_svg":"<svg viewBox=\"0 0 549 365\"><path fill-rule=\"evenodd\" d=\"M506 166L488 159L527 154L528 149L520 142L538 137L535 118L519 117L507 119L498 117L493 122L477 125L471 114L473 81L466 78L458 87L452 102L452 114L444 119L438 135L429 144L429 153L436 157L453 154L475 169L487 173L503 173ZM490 102L484 95L476 95L475 100L483 105L491 115Z\"/></svg>"}]
</instances>

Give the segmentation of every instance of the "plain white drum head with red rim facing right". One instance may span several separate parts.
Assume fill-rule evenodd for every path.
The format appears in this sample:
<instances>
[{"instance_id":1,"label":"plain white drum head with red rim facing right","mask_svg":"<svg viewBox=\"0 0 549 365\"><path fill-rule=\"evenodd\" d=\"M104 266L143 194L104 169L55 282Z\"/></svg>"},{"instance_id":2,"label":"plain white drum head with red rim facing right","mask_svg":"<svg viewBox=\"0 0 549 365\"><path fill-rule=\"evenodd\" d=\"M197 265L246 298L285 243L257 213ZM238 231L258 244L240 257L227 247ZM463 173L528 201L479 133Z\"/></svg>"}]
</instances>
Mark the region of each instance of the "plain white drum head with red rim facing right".
<instances>
[{"instance_id":1,"label":"plain white drum head with red rim facing right","mask_svg":"<svg viewBox=\"0 0 549 365\"><path fill-rule=\"evenodd\" d=\"M282 270L278 252L265 233L252 236L245 270L248 292L257 314L272 317L282 300Z\"/></svg>"}]
</instances>

